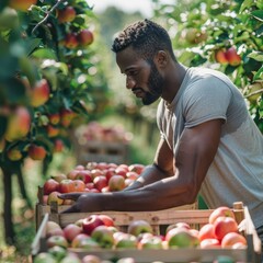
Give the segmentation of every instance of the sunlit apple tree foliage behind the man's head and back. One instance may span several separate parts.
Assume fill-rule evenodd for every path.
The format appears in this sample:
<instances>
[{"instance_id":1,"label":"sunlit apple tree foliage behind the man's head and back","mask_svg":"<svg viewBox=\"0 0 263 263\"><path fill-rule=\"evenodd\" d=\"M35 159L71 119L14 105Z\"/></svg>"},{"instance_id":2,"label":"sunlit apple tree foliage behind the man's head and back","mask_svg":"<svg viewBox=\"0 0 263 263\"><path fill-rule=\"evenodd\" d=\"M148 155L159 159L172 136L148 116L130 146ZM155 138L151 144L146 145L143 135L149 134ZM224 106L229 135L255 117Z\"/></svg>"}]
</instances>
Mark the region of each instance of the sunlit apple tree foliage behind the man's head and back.
<instances>
[{"instance_id":1,"label":"sunlit apple tree foliage behind the man's head and back","mask_svg":"<svg viewBox=\"0 0 263 263\"><path fill-rule=\"evenodd\" d=\"M174 5L153 2L156 15L173 36L179 60L228 75L240 88L263 133L263 2L186 0Z\"/></svg>"}]
</instances>

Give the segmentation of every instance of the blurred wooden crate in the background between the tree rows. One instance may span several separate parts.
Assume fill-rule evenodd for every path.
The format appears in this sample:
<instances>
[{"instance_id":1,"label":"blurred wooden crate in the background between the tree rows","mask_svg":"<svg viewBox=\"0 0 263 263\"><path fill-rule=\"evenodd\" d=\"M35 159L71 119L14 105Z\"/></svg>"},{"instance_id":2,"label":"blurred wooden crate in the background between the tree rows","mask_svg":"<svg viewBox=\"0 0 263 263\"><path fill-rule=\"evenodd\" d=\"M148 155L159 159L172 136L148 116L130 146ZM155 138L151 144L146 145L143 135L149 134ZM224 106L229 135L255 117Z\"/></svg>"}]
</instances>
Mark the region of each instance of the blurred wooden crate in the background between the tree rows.
<instances>
[{"instance_id":1,"label":"blurred wooden crate in the background between the tree rows","mask_svg":"<svg viewBox=\"0 0 263 263\"><path fill-rule=\"evenodd\" d=\"M91 140L79 145L77 162L87 164L88 161L126 163L128 160L128 145L115 141Z\"/></svg>"}]
</instances>

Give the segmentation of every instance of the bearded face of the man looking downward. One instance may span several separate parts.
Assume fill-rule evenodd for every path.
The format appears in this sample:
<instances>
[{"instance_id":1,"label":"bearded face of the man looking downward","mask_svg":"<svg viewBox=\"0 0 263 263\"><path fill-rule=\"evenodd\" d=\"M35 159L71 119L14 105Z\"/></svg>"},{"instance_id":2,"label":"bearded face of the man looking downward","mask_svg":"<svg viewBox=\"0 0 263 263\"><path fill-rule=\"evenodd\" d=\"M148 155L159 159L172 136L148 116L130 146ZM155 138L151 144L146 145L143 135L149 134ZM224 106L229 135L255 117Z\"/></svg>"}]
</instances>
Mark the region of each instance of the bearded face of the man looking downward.
<instances>
[{"instance_id":1,"label":"bearded face of the man looking downward","mask_svg":"<svg viewBox=\"0 0 263 263\"><path fill-rule=\"evenodd\" d=\"M117 53L116 61L122 73L126 75L126 88L140 98L145 105L161 96L164 80L152 60L138 58L129 47Z\"/></svg>"}]
</instances>

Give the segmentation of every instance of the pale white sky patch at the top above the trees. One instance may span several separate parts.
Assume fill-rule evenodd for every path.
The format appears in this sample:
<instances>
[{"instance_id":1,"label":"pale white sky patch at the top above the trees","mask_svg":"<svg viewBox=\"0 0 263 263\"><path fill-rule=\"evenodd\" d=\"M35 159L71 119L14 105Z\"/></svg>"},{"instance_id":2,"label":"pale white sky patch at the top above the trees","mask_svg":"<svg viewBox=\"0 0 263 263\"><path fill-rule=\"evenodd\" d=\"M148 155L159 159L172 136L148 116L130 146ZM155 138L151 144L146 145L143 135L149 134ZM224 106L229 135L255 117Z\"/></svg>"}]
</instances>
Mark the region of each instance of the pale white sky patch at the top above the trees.
<instances>
[{"instance_id":1,"label":"pale white sky patch at the top above the trees","mask_svg":"<svg viewBox=\"0 0 263 263\"><path fill-rule=\"evenodd\" d=\"M140 11L145 18L152 16L151 0L87 0L90 5L94 5L93 11L102 12L110 5L114 5L125 12ZM161 0L163 3L171 3L174 0Z\"/></svg>"}]
</instances>

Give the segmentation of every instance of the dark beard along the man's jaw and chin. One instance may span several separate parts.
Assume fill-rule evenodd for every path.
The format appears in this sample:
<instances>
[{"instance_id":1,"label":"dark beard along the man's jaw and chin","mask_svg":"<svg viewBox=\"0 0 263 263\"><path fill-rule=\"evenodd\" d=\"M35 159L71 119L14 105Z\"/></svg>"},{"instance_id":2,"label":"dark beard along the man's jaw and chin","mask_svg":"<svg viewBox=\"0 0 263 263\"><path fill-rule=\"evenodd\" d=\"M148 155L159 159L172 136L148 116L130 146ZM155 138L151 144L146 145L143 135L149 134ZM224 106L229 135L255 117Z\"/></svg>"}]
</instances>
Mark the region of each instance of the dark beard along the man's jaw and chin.
<instances>
[{"instance_id":1,"label":"dark beard along the man's jaw and chin","mask_svg":"<svg viewBox=\"0 0 263 263\"><path fill-rule=\"evenodd\" d=\"M162 87L164 84L164 80L162 76L159 73L153 61L149 61L151 65L151 71L148 79L149 92L146 92L145 98L142 98L144 105L150 105L156 102L162 94Z\"/></svg>"}]
</instances>

